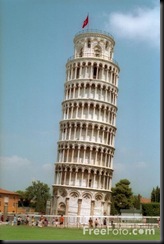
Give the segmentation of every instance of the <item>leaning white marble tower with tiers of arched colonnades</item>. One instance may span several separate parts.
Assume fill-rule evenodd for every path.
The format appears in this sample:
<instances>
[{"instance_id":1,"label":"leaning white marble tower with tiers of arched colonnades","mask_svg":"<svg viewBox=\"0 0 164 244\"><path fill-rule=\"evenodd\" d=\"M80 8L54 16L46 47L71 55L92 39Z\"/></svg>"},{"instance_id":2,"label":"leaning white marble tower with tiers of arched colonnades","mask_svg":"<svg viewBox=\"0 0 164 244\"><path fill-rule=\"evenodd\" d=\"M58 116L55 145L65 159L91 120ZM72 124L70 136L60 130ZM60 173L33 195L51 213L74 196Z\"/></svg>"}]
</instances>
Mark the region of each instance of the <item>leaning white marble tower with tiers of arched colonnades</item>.
<instances>
[{"instance_id":1,"label":"leaning white marble tower with tiers of arched colonnades","mask_svg":"<svg viewBox=\"0 0 164 244\"><path fill-rule=\"evenodd\" d=\"M66 63L53 214L110 214L120 71L114 46L114 38L102 31L74 37L74 55Z\"/></svg>"}]
</instances>

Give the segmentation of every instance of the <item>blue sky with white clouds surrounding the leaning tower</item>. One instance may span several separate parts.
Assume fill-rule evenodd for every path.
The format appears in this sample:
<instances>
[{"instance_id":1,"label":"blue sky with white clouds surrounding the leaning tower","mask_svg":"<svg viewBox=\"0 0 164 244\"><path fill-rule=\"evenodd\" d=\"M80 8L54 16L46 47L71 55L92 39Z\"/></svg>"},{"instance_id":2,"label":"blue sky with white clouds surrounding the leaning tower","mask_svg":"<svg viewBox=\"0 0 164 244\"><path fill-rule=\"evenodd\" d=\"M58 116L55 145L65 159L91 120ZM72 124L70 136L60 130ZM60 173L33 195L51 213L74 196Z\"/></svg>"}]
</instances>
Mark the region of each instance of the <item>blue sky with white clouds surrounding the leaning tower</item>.
<instances>
[{"instance_id":1,"label":"blue sky with white clouds surrounding the leaning tower","mask_svg":"<svg viewBox=\"0 0 164 244\"><path fill-rule=\"evenodd\" d=\"M160 1L1 0L0 187L54 183L65 65L85 28L114 36L120 66L112 185L160 186Z\"/></svg>"}]
</instances>

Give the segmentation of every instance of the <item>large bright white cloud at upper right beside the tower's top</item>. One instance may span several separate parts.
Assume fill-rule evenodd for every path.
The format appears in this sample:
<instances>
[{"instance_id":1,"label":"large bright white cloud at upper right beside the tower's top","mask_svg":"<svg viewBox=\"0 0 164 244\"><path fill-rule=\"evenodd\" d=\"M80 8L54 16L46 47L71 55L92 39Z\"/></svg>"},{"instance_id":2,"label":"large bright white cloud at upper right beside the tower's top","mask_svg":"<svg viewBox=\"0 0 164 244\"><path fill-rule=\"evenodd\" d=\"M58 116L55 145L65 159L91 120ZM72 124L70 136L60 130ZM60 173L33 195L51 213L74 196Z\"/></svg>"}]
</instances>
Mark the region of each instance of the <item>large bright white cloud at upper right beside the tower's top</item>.
<instances>
[{"instance_id":1,"label":"large bright white cloud at upper right beside the tower's top","mask_svg":"<svg viewBox=\"0 0 164 244\"><path fill-rule=\"evenodd\" d=\"M129 13L114 12L107 18L105 29L113 32L115 36L159 47L160 5L153 8L136 8Z\"/></svg>"}]
</instances>

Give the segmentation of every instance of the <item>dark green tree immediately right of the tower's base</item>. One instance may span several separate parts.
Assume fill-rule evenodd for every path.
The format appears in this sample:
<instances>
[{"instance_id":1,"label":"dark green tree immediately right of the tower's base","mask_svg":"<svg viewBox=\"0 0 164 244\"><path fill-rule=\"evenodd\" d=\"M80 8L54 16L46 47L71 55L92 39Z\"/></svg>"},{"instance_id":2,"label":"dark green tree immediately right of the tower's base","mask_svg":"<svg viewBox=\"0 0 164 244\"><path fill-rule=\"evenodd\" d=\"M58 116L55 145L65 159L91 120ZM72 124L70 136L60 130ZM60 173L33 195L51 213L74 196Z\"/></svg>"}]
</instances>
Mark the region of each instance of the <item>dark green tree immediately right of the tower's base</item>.
<instances>
[{"instance_id":1,"label":"dark green tree immediately right of the tower's base","mask_svg":"<svg viewBox=\"0 0 164 244\"><path fill-rule=\"evenodd\" d=\"M133 206L133 193L130 188L130 181L121 179L112 188L112 199L114 202L114 210L120 214L120 209L130 209Z\"/></svg>"}]
</instances>

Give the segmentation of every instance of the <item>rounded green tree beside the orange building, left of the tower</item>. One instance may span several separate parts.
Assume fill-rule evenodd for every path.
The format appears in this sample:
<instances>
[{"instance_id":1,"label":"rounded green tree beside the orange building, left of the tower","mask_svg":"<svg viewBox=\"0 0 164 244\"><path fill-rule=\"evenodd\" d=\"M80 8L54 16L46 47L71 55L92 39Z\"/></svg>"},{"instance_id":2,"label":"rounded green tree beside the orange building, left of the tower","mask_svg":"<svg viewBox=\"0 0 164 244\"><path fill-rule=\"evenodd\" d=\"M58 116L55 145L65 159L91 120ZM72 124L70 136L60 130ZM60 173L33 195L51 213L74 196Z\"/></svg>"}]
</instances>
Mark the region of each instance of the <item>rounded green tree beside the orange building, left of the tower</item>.
<instances>
[{"instance_id":1,"label":"rounded green tree beside the orange building, left of the tower","mask_svg":"<svg viewBox=\"0 0 164 244\"><path fill-rule=\"evenodd\" d=\"M33 181L32 186L26 188L27 199L36 212L45 213L47 200L51 198L50 188L40 181Z\"/></svg>"}]
</instances>

